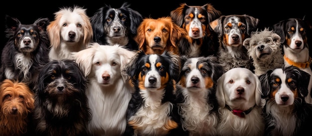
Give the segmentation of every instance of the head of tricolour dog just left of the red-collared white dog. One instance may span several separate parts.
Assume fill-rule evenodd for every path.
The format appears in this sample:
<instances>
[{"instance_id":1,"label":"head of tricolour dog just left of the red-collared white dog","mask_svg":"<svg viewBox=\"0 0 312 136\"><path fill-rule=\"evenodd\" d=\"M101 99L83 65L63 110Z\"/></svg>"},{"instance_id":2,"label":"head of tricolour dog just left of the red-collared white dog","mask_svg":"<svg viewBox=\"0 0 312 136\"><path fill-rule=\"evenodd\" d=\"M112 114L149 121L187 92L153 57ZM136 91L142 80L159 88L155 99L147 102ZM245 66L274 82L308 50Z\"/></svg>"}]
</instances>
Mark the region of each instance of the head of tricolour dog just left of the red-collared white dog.
<instances>
[{"instance_id":1,"label":"head of tricolour dog just left of the red-collared white dog","mask_svg":"<svg viewBox=\"0 0 312 136\"><path fill-rule=\"evenodd\" d=\"M218 64L217 57L181 58L181 72L178 83L188 90L196 91L203 88L214 88L217 79L223 74L223 68Z\"/></svg>"}]
</instances>

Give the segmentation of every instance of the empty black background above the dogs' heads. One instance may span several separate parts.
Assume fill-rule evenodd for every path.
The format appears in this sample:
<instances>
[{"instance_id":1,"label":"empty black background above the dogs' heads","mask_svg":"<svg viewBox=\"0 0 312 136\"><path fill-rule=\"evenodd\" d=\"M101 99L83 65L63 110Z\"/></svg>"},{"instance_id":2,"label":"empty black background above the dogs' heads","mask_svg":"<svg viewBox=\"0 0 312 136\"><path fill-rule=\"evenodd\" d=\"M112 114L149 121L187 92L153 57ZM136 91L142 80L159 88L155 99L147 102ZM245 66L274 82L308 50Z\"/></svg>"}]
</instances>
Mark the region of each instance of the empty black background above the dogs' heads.
<instances>
[{"instance_id":1,"label":"empty black background above the dogs' heads","mask_svg":"<svg viewBox=\"0 0 312 136\"><path fill-rule=\"evenodd\" d=\"M53 20L54 12L64 6L82 6L87 9L87 14L91 17L104 4L119 8L123 2L130 3L130 8L137 10L144 18L169 16L171 10L185 2L188 5L211 3L223 15L251 15L260 20L260 29L270 27L274 23L288 18L304 18L306 16L306 20L310 22L312 20L312 5L308 3L308 0L9 0L5 3L2 2L2 10L4 9L4 15L16 17L23 24L31 24L40 17L48 17ZM2 44L4 46L6 42L4 33L2 39L4 39Z\"/></svg>"}]
</instances>

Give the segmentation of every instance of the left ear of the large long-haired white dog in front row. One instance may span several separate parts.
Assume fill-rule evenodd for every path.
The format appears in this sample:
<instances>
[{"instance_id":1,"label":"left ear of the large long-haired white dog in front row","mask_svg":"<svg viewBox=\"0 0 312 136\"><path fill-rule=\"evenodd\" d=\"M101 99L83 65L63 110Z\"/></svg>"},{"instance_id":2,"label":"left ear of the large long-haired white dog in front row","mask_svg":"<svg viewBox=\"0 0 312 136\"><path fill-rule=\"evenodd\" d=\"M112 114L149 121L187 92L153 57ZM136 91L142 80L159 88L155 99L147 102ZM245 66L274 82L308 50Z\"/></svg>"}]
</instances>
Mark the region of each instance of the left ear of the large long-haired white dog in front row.
<instances>
[{"instance_id":1,"label":"left ear of the large long-haired white dog in front row","mask_svg":"<svg viewBox=\"0 0 312 136\"><path fill-rule=\"evenodd\" d=\"M75 62L83 71L85 77L87 77L91 72L92 60L96 52L96 48L100 48L100 45L98 43L93 43L87 49L71 53Z\"/></svg>"}]
</instances>

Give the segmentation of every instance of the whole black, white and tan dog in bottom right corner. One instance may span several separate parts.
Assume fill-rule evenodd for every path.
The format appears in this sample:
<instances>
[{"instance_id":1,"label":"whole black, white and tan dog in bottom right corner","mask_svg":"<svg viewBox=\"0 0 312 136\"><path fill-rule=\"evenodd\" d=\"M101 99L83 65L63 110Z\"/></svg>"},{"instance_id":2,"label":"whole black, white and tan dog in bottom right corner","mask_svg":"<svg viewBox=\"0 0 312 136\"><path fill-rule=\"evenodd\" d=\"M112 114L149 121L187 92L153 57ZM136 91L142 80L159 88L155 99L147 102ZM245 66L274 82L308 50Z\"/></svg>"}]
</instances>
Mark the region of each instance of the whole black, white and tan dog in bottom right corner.
<instances>
[{"instance_id":1,"label":"whole black, white and tan dog in bottom right corner","mask_svg":"<svg viewBox=\"0 0 312 136\"><path fill-rule=\"evenodd\" d=\"M266 136L307 136L312 105L306 103L310 74L294 67L269 70L259 76L266 104Z\"/></svg>"}]
</instances>

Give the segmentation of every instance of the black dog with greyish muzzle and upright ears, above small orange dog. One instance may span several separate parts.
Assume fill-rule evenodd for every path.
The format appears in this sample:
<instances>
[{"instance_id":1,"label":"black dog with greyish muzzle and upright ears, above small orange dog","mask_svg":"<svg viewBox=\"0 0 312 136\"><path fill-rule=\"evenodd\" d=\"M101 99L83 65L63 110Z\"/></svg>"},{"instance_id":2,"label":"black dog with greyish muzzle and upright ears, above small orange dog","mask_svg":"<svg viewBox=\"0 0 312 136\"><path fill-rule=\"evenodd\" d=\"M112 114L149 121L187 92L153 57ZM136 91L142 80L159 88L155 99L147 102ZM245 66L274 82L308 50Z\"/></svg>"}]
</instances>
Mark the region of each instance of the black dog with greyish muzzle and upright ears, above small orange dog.
<instances>
[{"instance_id":1,"label":"black dog with greyish muzzle and upright ears, above small orange dog","mask_svg":"<svg viewBox=\"0 0 312 136\"><path fill-rule=\"evenodd\" d=\"M35 82L38 70L49 62L50 41L46 32L48 18L38 18L33 24L22 24L5 15L6 42L1 54L0 81L14 79L29 85Z\"/></svg>"}]
</instances>

